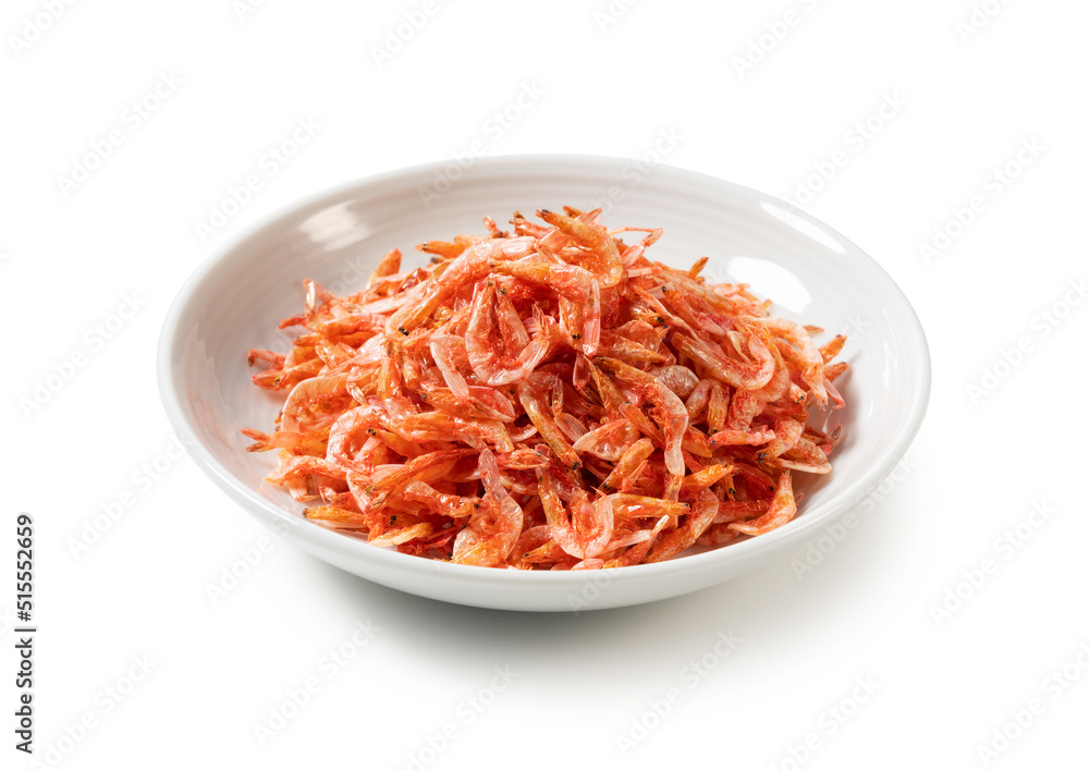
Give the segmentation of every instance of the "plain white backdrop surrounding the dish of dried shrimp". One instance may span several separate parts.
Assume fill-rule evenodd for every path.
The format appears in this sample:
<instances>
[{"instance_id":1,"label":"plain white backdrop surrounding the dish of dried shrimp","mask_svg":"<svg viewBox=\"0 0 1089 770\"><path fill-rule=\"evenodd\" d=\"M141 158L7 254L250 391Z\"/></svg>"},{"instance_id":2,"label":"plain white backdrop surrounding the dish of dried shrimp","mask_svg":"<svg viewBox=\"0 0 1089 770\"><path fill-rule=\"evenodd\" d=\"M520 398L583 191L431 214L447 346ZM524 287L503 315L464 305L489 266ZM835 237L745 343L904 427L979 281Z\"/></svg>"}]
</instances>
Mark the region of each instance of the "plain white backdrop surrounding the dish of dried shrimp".
<instances>
[{"instance_id":1,"label":"plain white backdrop surrounding the dish of dried shrimp","mask_svg":"<svg viewBox=\"0 0 1089 770\"><path fill-rule=\"evenodd\" d=\"M20 511L41 766L1086 766L1085 3L52 5L0 13L4 767L32 766L11 716ZM272 173L297 121L319 129ZM802 547L577 616L446 606L267 547L170 459L156 345L201 260L299 196L470 148L781 195L901 284L931 345L927 421L813 569ZM273 710L290 719L262 738Z\"/></svg>"}]
</instances>

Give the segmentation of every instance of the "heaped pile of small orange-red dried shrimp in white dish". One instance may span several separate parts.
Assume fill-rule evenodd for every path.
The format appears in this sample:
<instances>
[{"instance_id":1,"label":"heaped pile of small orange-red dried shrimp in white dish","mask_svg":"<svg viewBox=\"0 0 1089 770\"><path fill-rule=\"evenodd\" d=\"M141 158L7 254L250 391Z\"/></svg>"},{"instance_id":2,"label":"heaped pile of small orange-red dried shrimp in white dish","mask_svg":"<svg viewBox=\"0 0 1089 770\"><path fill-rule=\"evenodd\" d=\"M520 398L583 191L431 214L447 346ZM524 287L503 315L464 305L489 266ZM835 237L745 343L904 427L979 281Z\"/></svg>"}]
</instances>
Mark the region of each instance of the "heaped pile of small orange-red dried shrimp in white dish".
<instances>
[{"instance_id":1,"label":"heaped pile of small orange-red dried shrimp in white dish","mask_svg":"<svg viewBox=\"0 0 1089 770\"><path fill-rule=\"evenodd\" d=\"M645 252L661 230L600 210L515 212L512 231L390 252L367 288L306 281L286 356L254 350L286 393L268 477L306 517L376 546L521 570L614 567L719 547L791 521L792 472L827 474L847 368L819 329L769 314ZM631 234L634 242L621 236ZM638 240L635 240L638 239Z\"/></svg>"}]
</instances>

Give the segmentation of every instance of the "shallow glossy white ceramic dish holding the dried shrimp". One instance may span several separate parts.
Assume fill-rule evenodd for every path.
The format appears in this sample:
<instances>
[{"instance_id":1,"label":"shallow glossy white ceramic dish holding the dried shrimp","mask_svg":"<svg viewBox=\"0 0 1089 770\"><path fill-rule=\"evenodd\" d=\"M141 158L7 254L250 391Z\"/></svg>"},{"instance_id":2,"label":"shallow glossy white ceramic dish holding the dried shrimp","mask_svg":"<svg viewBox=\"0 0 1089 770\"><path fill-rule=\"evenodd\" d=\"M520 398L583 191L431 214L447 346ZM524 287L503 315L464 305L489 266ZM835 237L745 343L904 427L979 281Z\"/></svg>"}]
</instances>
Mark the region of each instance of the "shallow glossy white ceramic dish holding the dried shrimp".
<instances>
[{"instance_id":1,"label":"shallow glossy white ceramic dish holding the dried shrimp","mask_svg":"<svg viewBox=\"0 0 1089 770\"><path fill-rule=\"evenodd\" d=\"M435 193L440 193L433 196ZM841 384L846 439L833 473L806 491L798 516L768 535L670 562L609 571L523 572L448 564L376 548L299 516L262 478L274 453L245 452L243 427L270 430L280 400L250 382L250 347L286 352L278 322L302 307L301 282L339 293L366 282L396 246L415 258L421 241L481 232L515 209L605 208L610 227L661 227L651 258L744 281L773 313L845 331ZM423 259L420 259L423 261ZM175 300L162 330L159 388L167 415L197 464L247 512L319 559L411 594L509 610L624 607L721 583L781 558L819 535L892 472L914 439L930 391L926 338L896 284L857 246L788 204L690 171L579 156L433 163L311 196L278 211L210 257ZM861 576L860 576L861 577Z\"/></svg>"}]
</instances>

